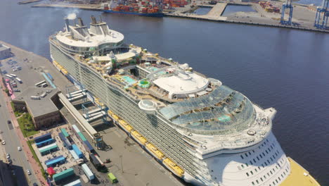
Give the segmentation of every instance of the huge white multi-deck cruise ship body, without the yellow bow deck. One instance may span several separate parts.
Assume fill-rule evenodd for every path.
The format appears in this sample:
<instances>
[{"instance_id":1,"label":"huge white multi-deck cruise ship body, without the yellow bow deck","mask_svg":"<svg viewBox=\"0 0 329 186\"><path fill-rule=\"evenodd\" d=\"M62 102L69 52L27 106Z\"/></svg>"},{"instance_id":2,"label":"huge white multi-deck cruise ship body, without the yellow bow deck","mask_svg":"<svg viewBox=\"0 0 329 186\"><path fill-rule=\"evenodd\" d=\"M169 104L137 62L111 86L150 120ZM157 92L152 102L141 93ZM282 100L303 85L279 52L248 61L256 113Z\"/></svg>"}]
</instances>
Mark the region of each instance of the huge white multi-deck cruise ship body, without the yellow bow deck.
<instances>
[{"instance_id":1,"label":"huge white multi-deck cruise ship body, without the yellow bow deck","mask_svg":"<svg viewBox=\"0 0 329 186\"><path fill-rule=\"evenodd\" d=\"M123 130L195 185L280 185L290 161L271 132L276 114L188 64L124 44L91 17L49 37L66 77L108 106Z\"/></svg>"}]
</instances>

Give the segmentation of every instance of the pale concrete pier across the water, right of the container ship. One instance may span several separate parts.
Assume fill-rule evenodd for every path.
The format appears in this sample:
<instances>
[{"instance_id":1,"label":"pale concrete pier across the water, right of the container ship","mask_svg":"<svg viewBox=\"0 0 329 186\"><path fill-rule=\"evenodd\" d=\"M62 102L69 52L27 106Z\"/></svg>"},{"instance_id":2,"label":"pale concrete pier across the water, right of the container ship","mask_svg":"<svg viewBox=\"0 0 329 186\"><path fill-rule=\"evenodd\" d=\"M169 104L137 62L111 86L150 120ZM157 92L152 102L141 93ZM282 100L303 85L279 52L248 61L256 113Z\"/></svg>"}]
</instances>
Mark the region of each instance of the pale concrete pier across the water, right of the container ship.
<instances>
[{"instance_id":1,"label":"pale concrete pier across the water, right of the container ship","mask_svg":"<svg viewBox=\"0 0 329 186\"><path fill-rule=\"evenodd\" d=\"M273 6L281 7L282 2L271 2ZM238 6L251 6L254 12L236 12L228 16L222 16L226 6L238 5ZM236 23L236 24L247 24L257 25L265 27L283 27L297 30L306 30L312 32L324 32L329 33L329 30L319 30L314 27L314 11L311 11L309 6L296 4L294 8L294 16L292 17L292 25L281 25L280 24L280 13L269 13L262 8L259 4L255 3L242 3L237 1L231 1L229 3L217 3L216 5L204 5L200 4L201 8L212 9L206 15L197 15L195 13L183 13L176 11L174 13L165 13L165 16L175 18L189 18L195 20L207 20L222 23Z\"/></svg>"}]
</instances>

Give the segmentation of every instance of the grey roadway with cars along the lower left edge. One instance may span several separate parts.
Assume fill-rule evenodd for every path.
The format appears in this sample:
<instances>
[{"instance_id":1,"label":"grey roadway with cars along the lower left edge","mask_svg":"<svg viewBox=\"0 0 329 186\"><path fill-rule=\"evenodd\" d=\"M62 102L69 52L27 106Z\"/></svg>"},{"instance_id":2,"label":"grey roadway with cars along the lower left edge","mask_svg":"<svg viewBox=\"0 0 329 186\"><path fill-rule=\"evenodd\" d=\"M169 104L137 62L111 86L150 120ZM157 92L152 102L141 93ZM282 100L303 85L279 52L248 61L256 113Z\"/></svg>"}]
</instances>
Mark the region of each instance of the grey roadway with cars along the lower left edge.
<instances>
[{"instance_id":1,"label":"grey roadway with cars along the lower left edge","mask_svg":"<svg viewBox=\"0 0 329 186\"><path fill-rule=\"evenodd\" d=\"M13 124L8 125L7 120L11 120L11 114L8 112L7 104L5 97L7 95L4 94L2 89L0 90L0 130L1 133L1 140L5 140L6 144L2 145L1 148L11 155L11 160L13 161L13 170L15 171L15 176L18 185L25 186L25 185L32 185L33 182L38 182L30 163L27 161L27 157L25 156L24 151L18 151L18 147L22 147L20 142L20 138L15 132L13 128ZM27 145L27 144L25 144ZM1 154L1 156L6 156L6 154ZM6 159L6 157L4 157ZM30 169L32 175L27 175L26 170ZM27 179L26 179L27 178Z\"/></svg>"}]
</instances>

